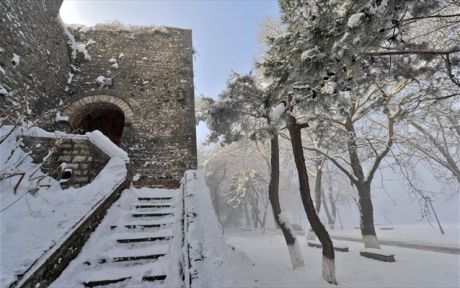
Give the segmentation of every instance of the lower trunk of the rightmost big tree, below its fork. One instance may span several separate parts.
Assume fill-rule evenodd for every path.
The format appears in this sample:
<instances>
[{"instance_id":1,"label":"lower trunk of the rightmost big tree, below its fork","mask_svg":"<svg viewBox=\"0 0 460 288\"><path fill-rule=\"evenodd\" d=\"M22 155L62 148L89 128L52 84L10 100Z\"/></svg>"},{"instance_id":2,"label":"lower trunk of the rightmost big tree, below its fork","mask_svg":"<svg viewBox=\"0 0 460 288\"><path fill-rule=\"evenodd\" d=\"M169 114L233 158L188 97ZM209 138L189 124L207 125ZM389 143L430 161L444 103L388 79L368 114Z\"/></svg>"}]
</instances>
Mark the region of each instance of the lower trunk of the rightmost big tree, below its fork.
<instances>
[{"instance_id":1,"label":"lower trunk of the rightmost big tree, below its fork","mask_svg":"<svg viewBox=\"0 0 460 288\"><path fill-rule=\"evenodd\" d=\"M364 248L380 249L380 244L375 233L374 207L371 199L371 185L368 182L357 185L359 194L359 209L361 211L361 235Z\"/></svg>"}]
</instances>

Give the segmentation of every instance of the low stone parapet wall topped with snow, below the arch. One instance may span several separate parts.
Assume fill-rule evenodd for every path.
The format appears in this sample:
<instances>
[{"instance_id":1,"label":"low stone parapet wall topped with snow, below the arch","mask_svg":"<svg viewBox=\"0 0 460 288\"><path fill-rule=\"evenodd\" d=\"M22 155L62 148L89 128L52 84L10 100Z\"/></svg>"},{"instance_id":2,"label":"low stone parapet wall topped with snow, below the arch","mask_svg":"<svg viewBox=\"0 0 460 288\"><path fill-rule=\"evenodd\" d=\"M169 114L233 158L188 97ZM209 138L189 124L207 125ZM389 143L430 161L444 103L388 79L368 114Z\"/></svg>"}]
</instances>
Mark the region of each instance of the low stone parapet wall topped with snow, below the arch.
<instances>
[{"instance_id":1,"label":"low stone parapet wall topped with snow, below the arch","mask_svg":"<svg viewBox=\"0 0 460 288\"><path fill-rule=\"evenodd\" d=\"M34 163L41 163L48 152L56 146L56 152L48 158L41 170L60 180L61 164L65 162L65 168L72 169L72 176L68 181L61 183L63 189L81 187L92 182L110 160L109 156L87 139L60 139L57 142L54 138L24 136L22 142L24 151L32 152L30 155Z\"/></svg>"}]
</instances>

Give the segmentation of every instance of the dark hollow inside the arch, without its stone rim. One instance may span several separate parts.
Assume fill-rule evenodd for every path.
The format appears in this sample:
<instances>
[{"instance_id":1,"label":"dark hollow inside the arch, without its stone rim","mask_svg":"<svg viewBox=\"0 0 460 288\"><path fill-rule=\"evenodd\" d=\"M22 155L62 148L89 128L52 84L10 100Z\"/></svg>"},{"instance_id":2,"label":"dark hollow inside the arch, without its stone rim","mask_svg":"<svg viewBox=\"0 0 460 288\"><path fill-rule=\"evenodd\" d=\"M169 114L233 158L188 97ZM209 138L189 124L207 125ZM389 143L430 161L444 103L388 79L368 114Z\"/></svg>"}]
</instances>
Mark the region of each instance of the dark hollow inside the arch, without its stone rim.
<instances>
[{"instance_id":1,"label":"dark hollow inside the arch, without its stone rim","mask_svg":"<svg viewBox=\"0 0 460 288\"><path fill-rule=\"evenodd\" d=\"M84 108L84 116L75 128L82 134L94 130L101 131L113 143L120 145L125 115L120 108L108 103L94 103Z\"/></svg>"}]
</instances>

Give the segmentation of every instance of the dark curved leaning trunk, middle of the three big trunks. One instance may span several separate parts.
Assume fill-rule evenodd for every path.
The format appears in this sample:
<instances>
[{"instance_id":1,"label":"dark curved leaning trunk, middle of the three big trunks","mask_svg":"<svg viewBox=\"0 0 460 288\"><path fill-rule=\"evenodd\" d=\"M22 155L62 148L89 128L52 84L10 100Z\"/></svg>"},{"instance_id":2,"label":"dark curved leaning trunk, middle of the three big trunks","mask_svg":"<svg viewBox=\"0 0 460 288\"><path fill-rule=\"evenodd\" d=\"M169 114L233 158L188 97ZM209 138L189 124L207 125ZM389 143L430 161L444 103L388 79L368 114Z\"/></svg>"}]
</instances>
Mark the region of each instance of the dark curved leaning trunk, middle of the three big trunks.
<instances>
[{"instance_id":1,"label":"dark curved leaning trunk, middle of the three big trunks","mask_svg":"<svg viewBox=\"0 0 460 288\"><path fill-rule=\"evenodd\" d=\"M308 184L307 167L305 166L305 157L303 155L302 148L302 137L301 129L306 127L297 124L297 120L294 116L288 114L286 118L286 126L291 136L291 145L294 153L294 160L297 167L297 173L299 176L300 185L300 196L302 198L302 204L307 214L308 221L311 227L318 236L321 245L323 246L323 277L324 279L333 284L337 284L335 279L335 253L334 246L332 244L331 237L327 233L326 228L319 220L318 214L316 213L315 206L310 194L310 186Z\"/></svg>"}]
</instances>

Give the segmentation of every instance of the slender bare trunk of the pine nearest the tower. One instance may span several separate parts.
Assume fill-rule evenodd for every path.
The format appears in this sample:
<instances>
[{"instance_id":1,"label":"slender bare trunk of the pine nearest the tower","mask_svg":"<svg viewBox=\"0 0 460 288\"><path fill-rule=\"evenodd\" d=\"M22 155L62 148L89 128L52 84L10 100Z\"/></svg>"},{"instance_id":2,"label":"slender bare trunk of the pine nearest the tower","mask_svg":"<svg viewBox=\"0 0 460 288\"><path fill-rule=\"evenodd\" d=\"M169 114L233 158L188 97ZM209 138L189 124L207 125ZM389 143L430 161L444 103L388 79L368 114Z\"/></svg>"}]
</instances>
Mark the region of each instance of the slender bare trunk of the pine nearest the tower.
<instances>
[{"instance_id":1,"label":"slender bare trunk of the pine nearest the tower","mask_svg":"<svg viewBox=\"0 0 460 288\"><path fill-rule=\"evenodd\" d=\"M270 204L272 205L273 215L275 217L276 224L281 228L284 239L289 250L289 256L291 257L292 268L298 268L304 266L303 256L300 251L299 243L294 235L294 231L287 221L286 217L281 214L281 205L279 199L279 181L280 181L280 160L279 160L279 143L278 133L274 133L270 141L270 184L268 186L268 197Z\"/></svg>"}]
</instances>

